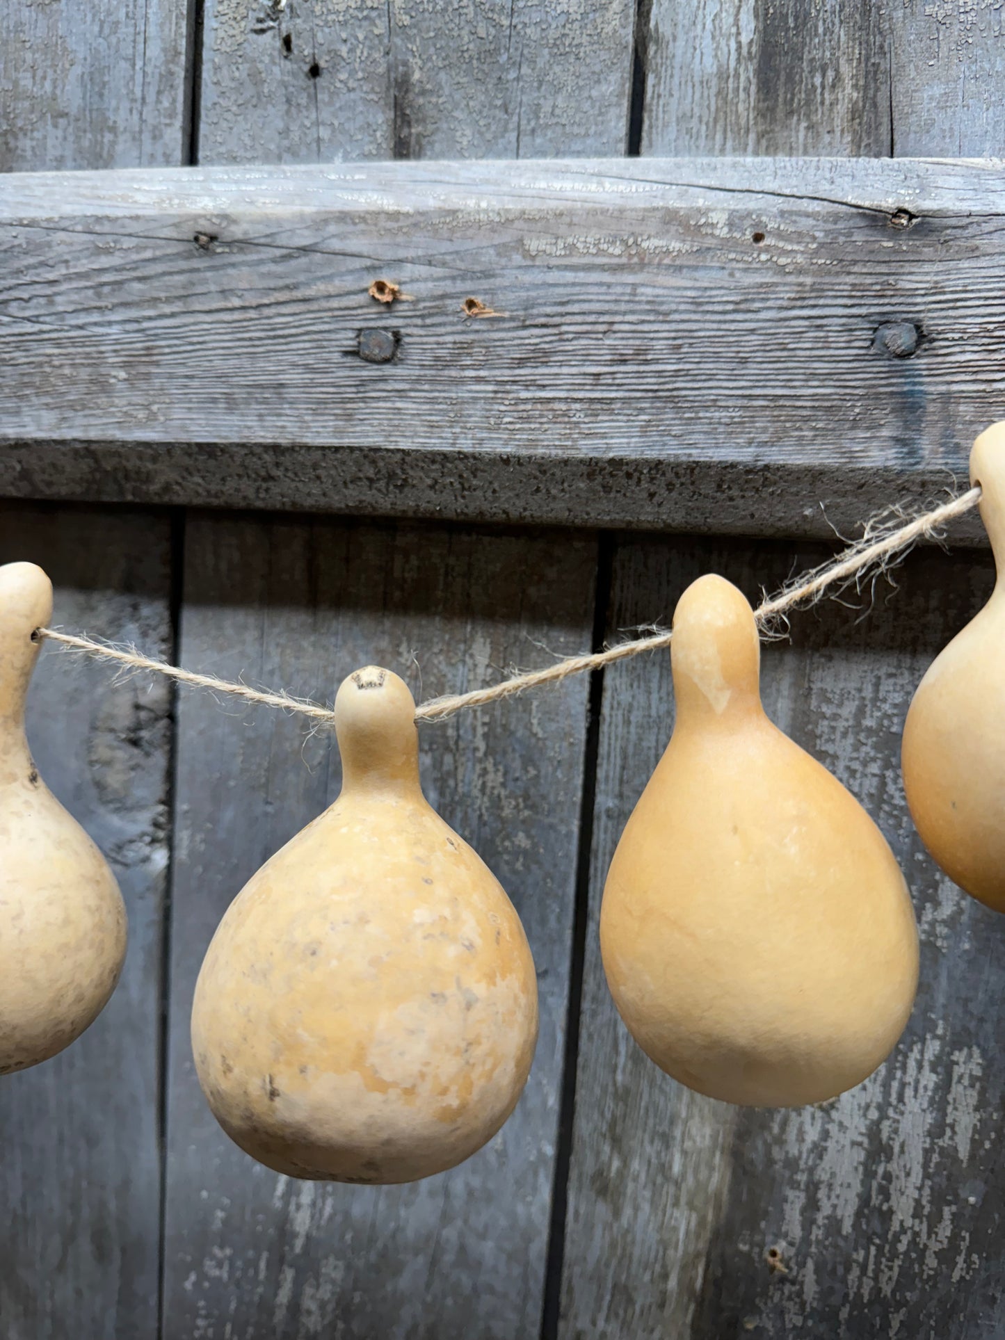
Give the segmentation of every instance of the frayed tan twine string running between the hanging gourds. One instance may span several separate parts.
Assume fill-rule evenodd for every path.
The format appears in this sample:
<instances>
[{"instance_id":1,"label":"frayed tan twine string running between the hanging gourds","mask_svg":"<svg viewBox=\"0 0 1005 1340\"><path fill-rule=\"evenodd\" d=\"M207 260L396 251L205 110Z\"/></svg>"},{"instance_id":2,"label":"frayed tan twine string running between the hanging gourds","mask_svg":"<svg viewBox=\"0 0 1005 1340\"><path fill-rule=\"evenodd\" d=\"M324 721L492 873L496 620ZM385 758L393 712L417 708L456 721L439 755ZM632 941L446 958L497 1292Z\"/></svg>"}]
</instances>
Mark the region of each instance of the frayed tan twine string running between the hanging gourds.
<instances>
[{"instance_id":1,"label":"frayed tan twine string running between the hanging gourds","mask_svg":"<svg viewBox=\"0 0 1005 1340\"><path fill-rule=\"evenodd\" d=\"M887 572L895 563L899 563L917 544L918 540L941 539L941 528L949 521L963 516L977 505L981 497L980 486L961 493L958 497L942 503L918 516L904 521L904 513L894 509L894 520L884 521L882 517L890 515L890 509L866 523L860 540L850 544L836 557L821 563L808 572L800 574L787 582L781 590L765 598L754 610L754 619L762 636L777 635L779 622L784 622L785 615L796 608L807 607L821 599L824 595L839 595L850 584L860 588L864 578L875 580L876 576ZM899 523L899 524L898 524ZM56 628L39 628L36 634L40 639L56 642L70 651L82 655L95 657L100 661L111 661L126 673L150 671L151 674L166 675L178 683L186 683L193 689L208 689L212 693L229 694L243 698L245 702L257 702L265 708L277 708L281 712L291 712L299 716L311 717L318 722L332 725L334 710L310 698L297 698L285 690L252 689L247 683L234 683L212 674L198 674L185 670L182 666L173 666L155 657L145 657L135 647L115 646L111 642L102 642L79 634L62 632ZM498 702L503 698L512 698L528 689L537 689L545 683L559 683L570 675L586 674L590 670L599 670L603 666L627 661L630 657L642 655L643 651L657 651L659 647L670 646L673 632L670 630L657 630L645 638L632 638L618 642L603 651L594 651L587 655L565 657L543 670L528 670L523 674L511 675L498 683L485 689L473 689L470 693L446 694L440 698L430 698L419 704L415 709L415 721L444 721L468 708L481 708L489 702Z\"/></svg>"}]
</instances>

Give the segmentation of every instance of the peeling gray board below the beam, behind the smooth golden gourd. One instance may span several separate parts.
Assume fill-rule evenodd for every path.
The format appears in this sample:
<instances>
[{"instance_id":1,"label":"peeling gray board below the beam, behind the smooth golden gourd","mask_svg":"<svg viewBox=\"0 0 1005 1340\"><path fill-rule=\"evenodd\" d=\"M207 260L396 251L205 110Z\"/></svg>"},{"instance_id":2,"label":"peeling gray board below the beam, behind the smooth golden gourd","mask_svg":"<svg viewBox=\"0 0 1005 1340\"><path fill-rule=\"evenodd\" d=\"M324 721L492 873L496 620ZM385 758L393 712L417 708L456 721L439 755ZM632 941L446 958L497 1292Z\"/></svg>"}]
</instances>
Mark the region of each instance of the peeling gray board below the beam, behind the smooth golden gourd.
<instances>
[{"instance_id":1,"label":"peeling gray board below the beam, behind the smooth golden gourd","mask_svg":"<svg viewBox=\"0 0 1005 1340\"><path fill-rule=\"evenodd\" d=\"M608 627L667 622L705 571L750 596L815 551L635 541L616 551ZM1005 1332L1001 918L941 876L899 776L911 693L984 603L989 560L929 551L871 612L792 616L766 646L765 705L876 819L918 911L922 973L904 1038L875 1076L813 1108L740 1110L675 1084L618 1020L596 925L615 843L673 724L670 658L607 671L564 1258L565 1340ZM768 1252L777 1252L775 1269Z\"/></svg>"}]
</instances>

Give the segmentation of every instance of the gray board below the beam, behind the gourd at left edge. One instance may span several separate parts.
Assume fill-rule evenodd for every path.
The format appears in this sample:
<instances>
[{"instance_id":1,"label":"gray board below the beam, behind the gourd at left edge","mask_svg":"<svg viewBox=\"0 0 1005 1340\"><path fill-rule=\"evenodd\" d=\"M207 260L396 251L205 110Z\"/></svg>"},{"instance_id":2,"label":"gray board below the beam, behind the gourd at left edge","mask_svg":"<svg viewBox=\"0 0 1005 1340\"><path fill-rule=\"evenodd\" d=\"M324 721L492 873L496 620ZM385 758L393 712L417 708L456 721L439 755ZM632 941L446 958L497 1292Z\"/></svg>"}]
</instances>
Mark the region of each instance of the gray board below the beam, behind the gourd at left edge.
<instances>
[{"instance_id":1,"label":"gray board below the beam, behind the gourd at left edge","mask_svg":"<svg viewBox=\"0 0 1005 1340\"><path fill-rule=\"evenodd\" d=\"M54 622L170 655L163 516L0 505L0 563L39 563ZM170 691L43 650L29 741L47 784L109 858L129 913L119 985L51 1061L0 1080L4 1340L138 1340L157 1329L161 915Z\"/></svg>"}]
</instances>

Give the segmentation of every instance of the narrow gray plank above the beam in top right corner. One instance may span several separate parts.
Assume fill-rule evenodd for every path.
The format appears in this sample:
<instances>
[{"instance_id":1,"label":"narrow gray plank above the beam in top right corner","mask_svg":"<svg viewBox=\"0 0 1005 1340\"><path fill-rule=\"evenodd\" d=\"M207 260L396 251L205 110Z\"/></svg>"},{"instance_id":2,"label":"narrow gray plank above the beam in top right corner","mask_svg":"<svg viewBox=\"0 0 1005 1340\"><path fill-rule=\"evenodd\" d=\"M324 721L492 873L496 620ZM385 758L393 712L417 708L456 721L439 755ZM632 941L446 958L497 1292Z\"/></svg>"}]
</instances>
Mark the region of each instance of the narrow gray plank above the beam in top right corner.
<instances>
[{"instance_id":1,"label":"narrow gray plank above the beam in top right corner","mask_svg":"<svg viewBox=\"0 0 1005 1340\"><path fill-rule=\"evenodd\" d=\"M892 153L1005 154L1001 11L989 0L887 7Z\"/></svg>"}]
</instances>

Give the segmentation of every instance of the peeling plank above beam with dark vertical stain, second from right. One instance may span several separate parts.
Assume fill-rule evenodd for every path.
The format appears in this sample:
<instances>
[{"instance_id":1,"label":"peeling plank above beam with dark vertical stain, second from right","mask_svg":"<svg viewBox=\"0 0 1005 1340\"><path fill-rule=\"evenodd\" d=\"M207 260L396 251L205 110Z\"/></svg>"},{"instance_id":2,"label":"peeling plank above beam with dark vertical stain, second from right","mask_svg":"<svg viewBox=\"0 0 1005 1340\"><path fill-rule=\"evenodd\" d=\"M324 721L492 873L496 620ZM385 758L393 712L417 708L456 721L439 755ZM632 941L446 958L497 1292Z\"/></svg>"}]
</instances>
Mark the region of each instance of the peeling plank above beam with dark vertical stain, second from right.
<instances>
[{"instance_id":1,"label":"peeling plank above beam with dark vertical stain, second from right","mask_svg":"<svg viewBox=\"0 0 1005 1340\"><path fill-rule=\"evenodd\" d=\"M651 0L642 153L888 154L887 8Z\"/></svg>"}]
</instances>

